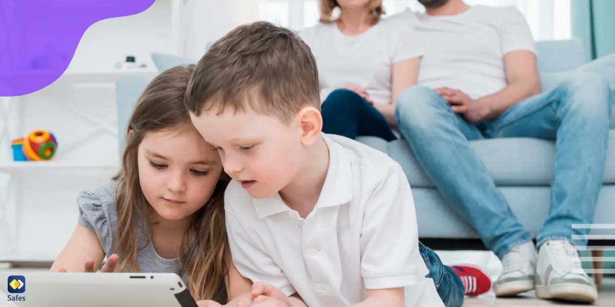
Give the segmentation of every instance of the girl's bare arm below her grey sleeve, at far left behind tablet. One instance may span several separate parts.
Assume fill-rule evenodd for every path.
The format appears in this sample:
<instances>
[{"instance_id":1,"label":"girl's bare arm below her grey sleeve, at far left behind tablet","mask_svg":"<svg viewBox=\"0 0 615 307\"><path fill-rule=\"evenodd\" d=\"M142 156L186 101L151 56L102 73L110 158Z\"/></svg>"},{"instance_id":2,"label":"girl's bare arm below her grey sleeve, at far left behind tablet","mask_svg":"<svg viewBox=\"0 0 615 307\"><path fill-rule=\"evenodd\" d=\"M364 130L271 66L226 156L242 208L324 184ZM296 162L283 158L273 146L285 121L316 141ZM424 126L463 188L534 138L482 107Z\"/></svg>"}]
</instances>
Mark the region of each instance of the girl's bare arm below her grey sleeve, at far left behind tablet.
<instances>
[{"instance_id":1,"label":"girl's bare arm below her grey sleeve, at far left behind tablet","mask_svg":"<svg viewBox=\"0 0 615 307\"><path fill-rule=\"evenodd\" d=\"M85 272L84 263L93 260L93 268L98 268L105 259L105 251L98 241L98 236L80 223L68 239L68 243L58 255L50 271Z\"/></svg>"}]
</instances>

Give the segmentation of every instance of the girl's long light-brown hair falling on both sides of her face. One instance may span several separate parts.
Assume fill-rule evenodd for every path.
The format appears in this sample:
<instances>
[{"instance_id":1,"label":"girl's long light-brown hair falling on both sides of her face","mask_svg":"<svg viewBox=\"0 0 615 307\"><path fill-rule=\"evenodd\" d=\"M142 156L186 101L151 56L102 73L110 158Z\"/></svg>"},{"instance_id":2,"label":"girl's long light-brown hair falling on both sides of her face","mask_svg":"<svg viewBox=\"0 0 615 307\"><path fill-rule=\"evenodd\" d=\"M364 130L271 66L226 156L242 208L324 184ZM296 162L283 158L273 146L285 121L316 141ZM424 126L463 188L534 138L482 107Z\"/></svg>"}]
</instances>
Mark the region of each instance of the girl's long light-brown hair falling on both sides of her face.
<instances>
[{"instance_id":1,"label":"girl's long light-brown hair falling on both sides of her face","mask_svg":"<svg viewBox=\"0 0 615 307\"><path fill-rule=\"evenodd\" d=\"M139 182L137 152L148 132L192 125L184 105L188 80L194 65L177 66L162 72L143 90L128 121L122 169L117 176L117 236L114 242L121 259L117 271L138 272L138 234L147 234L151 242L148 214L153 209L143 195ZM189 289L197 300L212 299L226 276L226 253L229 250L224 223L224 189L229 177L221 173L211 198L192 216L181 242L180 276L186 274ZM144 228L145 227L145 228ZM191 239L191 234L194 237ZM213 282L216 281L216 282Z\"/></svg>"}]
</instances>

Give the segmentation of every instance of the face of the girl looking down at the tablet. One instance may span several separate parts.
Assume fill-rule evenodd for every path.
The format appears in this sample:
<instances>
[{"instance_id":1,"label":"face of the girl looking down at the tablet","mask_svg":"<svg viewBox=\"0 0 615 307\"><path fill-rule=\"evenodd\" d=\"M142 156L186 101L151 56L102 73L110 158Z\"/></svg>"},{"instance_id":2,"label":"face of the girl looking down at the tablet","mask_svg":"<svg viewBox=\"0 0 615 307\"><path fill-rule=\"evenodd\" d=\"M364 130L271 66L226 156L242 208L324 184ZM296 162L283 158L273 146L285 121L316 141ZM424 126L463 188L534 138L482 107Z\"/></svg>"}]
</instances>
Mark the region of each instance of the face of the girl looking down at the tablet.
<instances>
[{"instance_id":1,"label":"face of the girl looking down at the tablet","mask_svg":"<svg viewBox=\"0 0 615 307\"><path fill-rule=\"evenodd\" d=\"M191 124L148 132L138 149L141 190L156 213L181 220L204 206L222 171L220 155Z\"/></svg>"}]
</instances>

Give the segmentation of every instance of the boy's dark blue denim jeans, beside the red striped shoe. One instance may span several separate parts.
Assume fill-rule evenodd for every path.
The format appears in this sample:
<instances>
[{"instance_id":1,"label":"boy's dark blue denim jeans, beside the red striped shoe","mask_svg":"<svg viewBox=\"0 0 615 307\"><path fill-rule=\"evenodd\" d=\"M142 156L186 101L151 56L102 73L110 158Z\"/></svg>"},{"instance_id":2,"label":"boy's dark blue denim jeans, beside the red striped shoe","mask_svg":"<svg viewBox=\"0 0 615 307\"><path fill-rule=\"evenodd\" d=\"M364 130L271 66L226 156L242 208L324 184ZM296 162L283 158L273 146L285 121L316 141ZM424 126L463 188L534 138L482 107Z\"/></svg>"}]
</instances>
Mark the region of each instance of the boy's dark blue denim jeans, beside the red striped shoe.
<instances>
[{"instance_id":1,"label":"boy's dark blue denim jeans, beside the red striped shoe","mask_svg":"<svg viewBox=\"0 0 615 307\"><path fill-rule=\"evenodd\" d=\"M466 296L461 278L450 266L443 265L434 251L419 242L419 252L429 269L427 277L434 280L435 289L446 307L460 307Z\"/></svg>"}]
</instances>

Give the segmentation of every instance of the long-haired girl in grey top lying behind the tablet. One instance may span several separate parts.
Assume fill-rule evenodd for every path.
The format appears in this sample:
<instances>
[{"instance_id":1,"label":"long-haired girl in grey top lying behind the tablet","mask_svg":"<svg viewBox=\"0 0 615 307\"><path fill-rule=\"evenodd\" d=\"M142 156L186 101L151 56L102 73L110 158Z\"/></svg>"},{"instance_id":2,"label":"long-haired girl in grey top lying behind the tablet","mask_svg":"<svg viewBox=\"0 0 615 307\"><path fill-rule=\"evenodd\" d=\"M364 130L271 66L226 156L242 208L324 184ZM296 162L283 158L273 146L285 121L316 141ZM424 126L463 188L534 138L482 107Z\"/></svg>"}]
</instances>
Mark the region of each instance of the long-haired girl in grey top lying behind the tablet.
<instances>
[{"instance_id":1,"label":"long-haired girl in grey top lying behind the tablet","mask_svg":"<svg viewBox=\"0 0 615 307\"><path fill-rule=\"evenodd\" d=\"M79 194L77 227L51 271L95 272L107 256L105 272L177 273L196 300L245 292L226 238L229 177L183 104L193 69L171 68L145 88L117 182Z\"/></svg>"}]
</instances>

